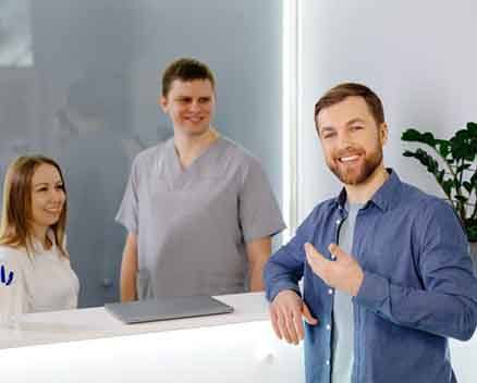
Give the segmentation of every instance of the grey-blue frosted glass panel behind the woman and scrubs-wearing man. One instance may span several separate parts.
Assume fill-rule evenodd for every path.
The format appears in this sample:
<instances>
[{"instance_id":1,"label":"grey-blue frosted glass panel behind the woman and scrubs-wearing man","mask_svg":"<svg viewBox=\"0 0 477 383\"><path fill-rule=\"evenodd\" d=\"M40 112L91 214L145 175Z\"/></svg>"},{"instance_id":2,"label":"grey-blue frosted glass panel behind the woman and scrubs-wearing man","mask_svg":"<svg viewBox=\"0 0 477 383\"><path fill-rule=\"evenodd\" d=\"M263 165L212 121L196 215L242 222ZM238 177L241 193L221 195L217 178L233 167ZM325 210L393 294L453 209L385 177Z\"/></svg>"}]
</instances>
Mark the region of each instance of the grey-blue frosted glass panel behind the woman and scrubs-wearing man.
<instances>
[{"instance_id":1,"label":"grey-blue frosted glass panel behind the woman and scrubs-wearing man","mask_svg":"<svg viewBox=\"0 0 477 383\"><path fill-rule=\"evenodd\" d=\"M0 0L0 175L58 159L69 192L80 306L118 300L125 237L113 222L142 149L171 136L160 73L194 57L217 76L215 125L259 157L281 199L281 2Z\"/></svg>"}]
</instances>

